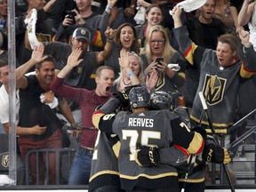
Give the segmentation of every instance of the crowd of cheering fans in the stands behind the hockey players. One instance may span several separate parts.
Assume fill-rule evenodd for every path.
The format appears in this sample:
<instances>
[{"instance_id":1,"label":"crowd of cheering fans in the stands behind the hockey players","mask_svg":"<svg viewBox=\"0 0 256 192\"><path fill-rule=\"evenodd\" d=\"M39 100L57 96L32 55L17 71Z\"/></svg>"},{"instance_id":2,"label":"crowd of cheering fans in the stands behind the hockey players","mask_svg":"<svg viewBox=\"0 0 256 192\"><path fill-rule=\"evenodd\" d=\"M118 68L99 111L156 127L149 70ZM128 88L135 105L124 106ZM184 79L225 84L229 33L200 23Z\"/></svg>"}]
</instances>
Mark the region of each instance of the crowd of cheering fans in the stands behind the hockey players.
<instances>
[{"instance_id":1,"label":"crowd of cheering fans in the stands behind the hockey players","mask_svg":"<svg viewBox=\"0 0 256 192\"><path fill-rule=\"evenodd\" d=\"M0 84L3 84L0 90L0 123L4 127L0 127L0 133L9 132L10 128L6 117L9 111L2 109L9 103L7 2L0 0ZM113 92L114 96L119 93L118 98L122 101L119 110L129 110L124 105L125 95L120 97L120 92L127 92L127 87L142 86L149 92L169 92L173 99L172 109L178 108L180 98L184 99L183 107L188 108L191 120L187 124L191 128L198 125L206 130L209 128L208 116L202 112L198 92L204 93L209 118L217 130L227 132L232 124L256 107L253 102L256 68L252 63L256 58L256 1L206 0L193 12L182 11L179 7L181 2L15 1L16 125L20 156L23 162L31 162L31 184L36 183L36 167L32 163L35 156L26 159L26 154L35 148L76 146L68 185L88 184L91 173L93 189L96 188L93 179L99 167L93 167L92 160L96 159L95 156L102 156L100 148L112 156L109 159L114 165L109 169L118 172L116 164L119 163L113 157L116 150L112 147L118 143L116 140L126 139L120 138L121 133L118 139L110 131L103 131L96 140L98 130L95 127L99 128L104 123L95 125L92 116L95 116L94 110L101 105L104 108L105 103L111 107L108 100L113 97ZM28 72L30 74L25 76ZM152 115L150 117L153 118ZM237 131L231 132L225 141L236 140L238 134ZM110 147L102 147L101 143L96 150L94 146L99 146L99 139L111 143ZM45 161L45 156L42 161ZM216 162L223 163L220 160ZM99 166L104 162L95 164ZM55 184L54 161L50 161L50 167L52 178L47 184ZM40 183L43 184L45 178L41 173ZM20 173L18 177L23 176ZM110 177L116 180L115 174ZM195 180L199 179L204 183L203 178ZM204 184L199 188L204 191ZM116 187L107 189L122 191ZM136 188L123 189L136 191ZM141 186L137 189L140 191Z\"/></svg>"}]
</instances>

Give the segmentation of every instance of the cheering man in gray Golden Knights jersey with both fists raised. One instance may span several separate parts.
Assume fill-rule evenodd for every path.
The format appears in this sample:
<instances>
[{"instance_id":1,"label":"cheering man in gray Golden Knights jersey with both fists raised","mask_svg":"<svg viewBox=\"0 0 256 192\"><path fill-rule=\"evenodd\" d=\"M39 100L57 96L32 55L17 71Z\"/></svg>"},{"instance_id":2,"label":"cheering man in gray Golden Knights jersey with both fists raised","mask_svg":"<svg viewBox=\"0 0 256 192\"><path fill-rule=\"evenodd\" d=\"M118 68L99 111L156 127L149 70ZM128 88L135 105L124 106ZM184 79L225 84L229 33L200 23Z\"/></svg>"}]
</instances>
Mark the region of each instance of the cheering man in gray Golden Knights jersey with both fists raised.
<instances>
[{"instance_id":1,"label":"cheering man in gray Golden Knights jersey with both fists raised","mask_svg":"<svg viewBox=\"0 0 256 192\"><path fill-rule=\"evenodd\" d=\"M216 132L227 133L235 123L237 94L239 87L256 74L256 52L249 42L249 33L241 29L239 38L231 34L219 36L215 50L205 49L194 44L188 36L188 30L182 26L181 10L175 6L172 10L174 20L173 32L180 44L180 52L189 65L200 68L200 79L193 108L190 113L191 123L198 124L202 113L202 103L198 92L203 92L207 110L216 128ZM243 45L243 54L240 50ZM225 116L223 116L225 114ZM209 128L207 117L203 116L201 124Z\"/></svg>"}]
</instances>

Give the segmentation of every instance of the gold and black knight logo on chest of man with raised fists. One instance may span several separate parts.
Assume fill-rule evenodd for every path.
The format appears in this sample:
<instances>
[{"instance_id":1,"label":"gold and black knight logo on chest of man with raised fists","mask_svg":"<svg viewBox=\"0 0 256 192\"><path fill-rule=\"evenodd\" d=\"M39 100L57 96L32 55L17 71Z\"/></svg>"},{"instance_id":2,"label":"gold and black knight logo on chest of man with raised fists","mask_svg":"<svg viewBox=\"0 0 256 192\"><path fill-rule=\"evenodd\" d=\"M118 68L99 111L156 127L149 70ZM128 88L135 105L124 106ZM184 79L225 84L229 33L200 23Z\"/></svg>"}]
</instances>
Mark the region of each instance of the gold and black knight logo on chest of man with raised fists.
<instances>
[{"instance_id":1,"label":"gold and black knight logo on chest of man with raised fists","mask_svg":"<svg viewBox=\"0 0 256 192\"><path fill-rule=\"evenodd\" d=\"M223 100L227 79L207 74L204 78L203 92L208 105L216 105Z\"/></svg>"}]
</instances>

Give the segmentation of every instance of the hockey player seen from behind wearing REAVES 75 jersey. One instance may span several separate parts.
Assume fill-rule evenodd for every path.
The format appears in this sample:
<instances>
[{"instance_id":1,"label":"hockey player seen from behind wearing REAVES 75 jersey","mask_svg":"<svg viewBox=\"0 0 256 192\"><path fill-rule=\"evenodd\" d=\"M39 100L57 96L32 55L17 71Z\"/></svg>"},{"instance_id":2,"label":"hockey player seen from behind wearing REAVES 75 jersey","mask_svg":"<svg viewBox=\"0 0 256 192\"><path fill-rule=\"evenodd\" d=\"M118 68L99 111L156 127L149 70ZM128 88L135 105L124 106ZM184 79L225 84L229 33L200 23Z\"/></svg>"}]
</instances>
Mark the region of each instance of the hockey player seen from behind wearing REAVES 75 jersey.
<instances>
[{"instance_id":1,"label":"hockey player seen from behind wearing REAVES 75 jersey","mask_svg":"<svg viewBox=\"0 0 256 192\"><path fill-rule=\"evenodd\" d=\"M132 88L129 97L125 92L117 92L116 95L93 114L92 122L101 132L116 133L121 141L118 158L121 188L126 191L179 191L175 166L186 160L179 159L180 154L196 154L202 150L204 130L190 132L180 117L169 110L148 110L149 92L145 87ZM120 104L127 103L128 98L132 113L113 113ZM177 151L173 153L177 156L176 164L141 167L136 164L134 155L136 148L144 145L172 146ZM152 154L155 153L152 151ZM152 161L154 159L151 158Z\"/></svg>"}]
</instances>

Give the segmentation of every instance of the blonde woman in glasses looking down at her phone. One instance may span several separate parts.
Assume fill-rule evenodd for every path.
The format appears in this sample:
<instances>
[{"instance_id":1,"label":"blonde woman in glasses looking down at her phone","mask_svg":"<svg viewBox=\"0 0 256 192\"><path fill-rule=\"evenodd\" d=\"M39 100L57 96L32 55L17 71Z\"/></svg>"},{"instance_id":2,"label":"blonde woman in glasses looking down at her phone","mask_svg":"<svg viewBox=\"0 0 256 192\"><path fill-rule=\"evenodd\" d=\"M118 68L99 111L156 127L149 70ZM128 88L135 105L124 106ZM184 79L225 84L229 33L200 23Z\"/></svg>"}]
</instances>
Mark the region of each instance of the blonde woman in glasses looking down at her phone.
<instances>
[{"instance_id":1,"label":"blonde woman in glasses looking down at her phone","mask_svg":"<svg viewBox=\"0 0 256 192\"><path fill-rule=\"evenodd\" d=\"M186 60L172 48L163 26L156 25L150 28L146 36L145 52L140 57L143 60L145 75L157 72L156 91L175 92L185 83Z\"/></svg>"}]
</instances>

